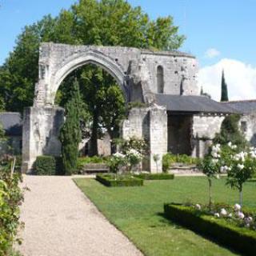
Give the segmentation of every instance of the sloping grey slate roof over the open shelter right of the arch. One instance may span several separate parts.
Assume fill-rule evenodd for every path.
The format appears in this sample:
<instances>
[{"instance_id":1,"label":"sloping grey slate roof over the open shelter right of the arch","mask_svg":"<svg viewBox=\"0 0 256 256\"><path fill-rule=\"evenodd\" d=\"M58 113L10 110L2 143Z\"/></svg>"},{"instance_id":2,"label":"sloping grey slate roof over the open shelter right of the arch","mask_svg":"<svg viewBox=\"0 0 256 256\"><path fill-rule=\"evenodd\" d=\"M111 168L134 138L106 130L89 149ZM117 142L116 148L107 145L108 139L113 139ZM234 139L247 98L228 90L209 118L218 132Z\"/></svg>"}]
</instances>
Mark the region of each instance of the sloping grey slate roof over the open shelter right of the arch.
<instances>
[{"instance_id":1,"label":"sloping grey slate roof over the open shelter right of the arch","mask_svg":"<svg viewBox=\"0 0 256 256\"><path fill-rule=\"evenodd\" d=\"M231 114L237 113L231 106L226 106L220 102L206 96L194 95L170 95L155 94L158 105L166 106L167 110L173 112L191 112L191 113L218 113Z\"/></svg>"}]
</instances>

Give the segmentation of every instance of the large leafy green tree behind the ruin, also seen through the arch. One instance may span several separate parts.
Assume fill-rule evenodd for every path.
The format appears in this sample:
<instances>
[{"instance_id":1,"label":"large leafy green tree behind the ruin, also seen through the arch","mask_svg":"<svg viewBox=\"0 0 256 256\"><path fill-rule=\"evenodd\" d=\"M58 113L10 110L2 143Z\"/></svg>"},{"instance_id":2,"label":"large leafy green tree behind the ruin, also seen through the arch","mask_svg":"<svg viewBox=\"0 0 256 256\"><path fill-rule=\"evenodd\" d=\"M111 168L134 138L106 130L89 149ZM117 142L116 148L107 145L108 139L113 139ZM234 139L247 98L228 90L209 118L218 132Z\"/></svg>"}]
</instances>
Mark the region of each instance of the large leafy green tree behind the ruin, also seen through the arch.
<instances>
[{"instance_id":1,"label":"large leafy green tree behind the ruin, also seen through the arch","mask_svg":"<svg viewBox=\"0 0 256 256\"><path fill-rule=\"evenodd\" d=\"M141 7L133 7L125 0L80 0L69 10L62 10L56 18L48 15L25 27L18 36L14 51L0 69L0 98L5 100L6 110L22 111L24 106L32 105L34 84L38 79L40 42L176 50L184 39L178 34L178 26L174 26L171 17L151 20ZM118 133L117 123L123 113L122 93L114 78L98 67L85 66L74 74L90 113L93 151L97 154L101 128L106 126L110 136L115 137ZM65 86L60 87L56 99L61 106L65 106L68 100L69 90L64 88L73 85L71 78L74 74L65 79ZM94 78L89 81L86 77ZM112 101L110 111L102 111L106 109L103 106L110 104L108 98L114 98L112 93L118 97L117 102ZM102 94L107 98L102 98Z\"/></svg>"}]
</instances>

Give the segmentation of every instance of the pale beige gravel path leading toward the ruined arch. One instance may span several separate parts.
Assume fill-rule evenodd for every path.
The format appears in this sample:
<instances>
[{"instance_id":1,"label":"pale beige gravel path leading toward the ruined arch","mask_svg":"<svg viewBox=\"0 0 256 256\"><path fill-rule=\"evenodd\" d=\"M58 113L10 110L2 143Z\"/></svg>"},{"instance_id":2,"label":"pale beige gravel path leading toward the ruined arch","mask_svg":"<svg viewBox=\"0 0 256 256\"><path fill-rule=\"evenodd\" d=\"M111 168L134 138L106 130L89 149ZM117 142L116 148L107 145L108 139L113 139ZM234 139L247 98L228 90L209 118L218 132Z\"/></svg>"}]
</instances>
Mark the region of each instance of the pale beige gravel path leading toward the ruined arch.
<instances>
[{"instance_id":1,"label":"pale beige gravel path leading toward the ruined arch","mask_svg":"<svg viewBox=\"0 0 256 256\"><path fill-rule=\"evenodd\" d=\"M70 177L24 177L24 256L142 256Z\"/></svg>"}]
</instances>

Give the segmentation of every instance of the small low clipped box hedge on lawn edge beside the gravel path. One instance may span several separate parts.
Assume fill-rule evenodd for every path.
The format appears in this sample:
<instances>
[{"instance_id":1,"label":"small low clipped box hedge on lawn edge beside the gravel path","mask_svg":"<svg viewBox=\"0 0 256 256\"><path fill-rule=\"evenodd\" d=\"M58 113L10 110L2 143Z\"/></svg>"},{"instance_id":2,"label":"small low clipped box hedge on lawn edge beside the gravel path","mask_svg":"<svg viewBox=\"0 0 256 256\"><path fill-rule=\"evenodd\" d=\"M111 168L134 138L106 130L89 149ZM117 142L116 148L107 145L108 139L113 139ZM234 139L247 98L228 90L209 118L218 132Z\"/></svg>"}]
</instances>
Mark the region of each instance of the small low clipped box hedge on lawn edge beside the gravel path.
<instances>
[{"instance_id":1,"label":"small low clipped box hedge on lawn edge beside the gravel path","mask_svg":"<svg viewBox=\"0 0 256 256\"><path fill-rule=\"evenodd\" d=\"M97 174L96 180L105 186L143 186L143 180L141 178L132 176L120 175L115 179L114 174Z\"/></svg>"}]
</instances>

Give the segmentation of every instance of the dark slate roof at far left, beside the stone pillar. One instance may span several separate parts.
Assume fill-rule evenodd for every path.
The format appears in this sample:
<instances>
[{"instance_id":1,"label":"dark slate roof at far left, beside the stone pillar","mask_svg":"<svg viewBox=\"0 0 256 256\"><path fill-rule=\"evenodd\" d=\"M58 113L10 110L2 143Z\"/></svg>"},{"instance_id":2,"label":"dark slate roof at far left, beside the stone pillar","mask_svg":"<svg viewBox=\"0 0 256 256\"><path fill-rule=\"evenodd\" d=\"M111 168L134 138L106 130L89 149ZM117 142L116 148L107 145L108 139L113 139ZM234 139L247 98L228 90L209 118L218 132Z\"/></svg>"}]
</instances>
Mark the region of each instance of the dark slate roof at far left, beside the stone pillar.
<instances>
[{"instance_id":1,"label":"dark slate roof at far left, beside the stone pillar","mask_svg":"<svg viewBox=\"0 0 256 256\"><path fill-rule=\"evenodd\" d=\"M22 136L22 117L19 113L0 113L0 123L7 136Z\"/></svg>"}]
</instances>

